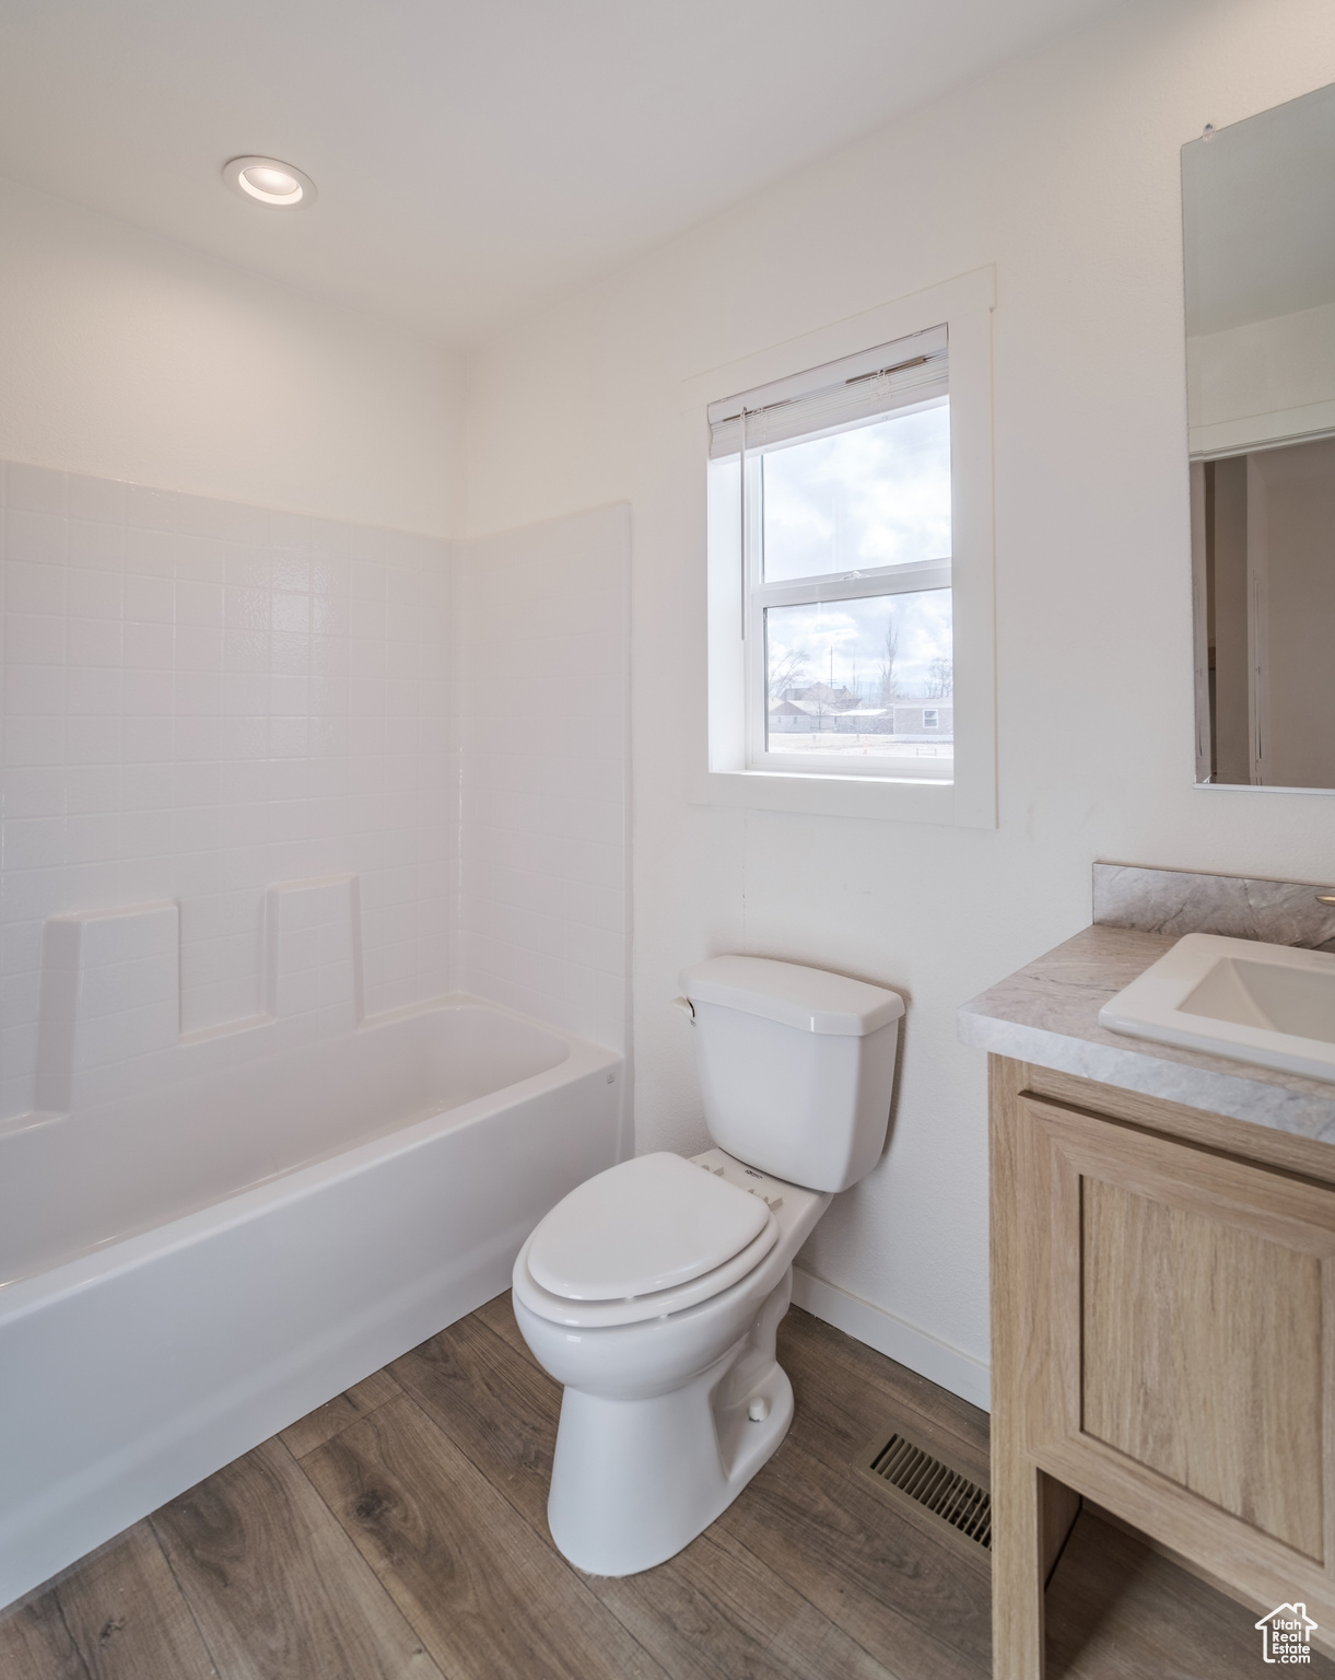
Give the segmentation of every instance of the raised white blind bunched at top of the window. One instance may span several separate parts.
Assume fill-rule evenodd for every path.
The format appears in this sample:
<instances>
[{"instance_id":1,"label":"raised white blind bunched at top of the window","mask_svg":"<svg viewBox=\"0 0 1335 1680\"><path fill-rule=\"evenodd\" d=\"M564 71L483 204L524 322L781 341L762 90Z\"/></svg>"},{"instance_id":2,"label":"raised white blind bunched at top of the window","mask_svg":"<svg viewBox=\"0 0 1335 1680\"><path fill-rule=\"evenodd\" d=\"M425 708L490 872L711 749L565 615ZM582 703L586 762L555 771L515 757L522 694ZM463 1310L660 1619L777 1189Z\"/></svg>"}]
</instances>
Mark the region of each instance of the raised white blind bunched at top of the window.
<instances>
[{"instance_id":1,"label":"raised white blind bunched at top of the window","mask_svg":"<svg viewBox=\"0 0 1335 1680\"><path fill-rule=\"evenodd\" d=\"M856 425L947 391L949 348L945 328L937 326L710 403L709 454L717 459L741 450L742 415L749 452Z\"/></svg>"}]
</instances>

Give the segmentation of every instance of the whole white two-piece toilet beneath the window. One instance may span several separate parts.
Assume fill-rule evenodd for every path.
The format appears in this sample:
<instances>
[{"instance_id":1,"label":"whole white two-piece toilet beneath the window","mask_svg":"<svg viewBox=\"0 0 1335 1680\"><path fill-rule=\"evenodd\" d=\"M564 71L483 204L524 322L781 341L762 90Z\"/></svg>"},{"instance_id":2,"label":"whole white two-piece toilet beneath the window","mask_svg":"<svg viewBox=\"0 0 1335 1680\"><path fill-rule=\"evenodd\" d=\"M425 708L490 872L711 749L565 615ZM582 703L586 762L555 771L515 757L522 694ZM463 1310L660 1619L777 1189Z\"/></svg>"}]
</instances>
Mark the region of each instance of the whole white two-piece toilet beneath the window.
<instances>
[{"instance_id":1,"label":"whole white two-piece toilet beneath the window","mask_svg":"<svg viewBox=\"0 0 1335 1680\"><path fill-rule=\"evenodd\" d=\"M898 993L752 956L682 991L717 1147L598 1173L514 1263L519 1329L566 1389L547 1522L589 1574L672 1557L779 1446L793 1257L885 1146Z\"/></svg>"}]
</instances>

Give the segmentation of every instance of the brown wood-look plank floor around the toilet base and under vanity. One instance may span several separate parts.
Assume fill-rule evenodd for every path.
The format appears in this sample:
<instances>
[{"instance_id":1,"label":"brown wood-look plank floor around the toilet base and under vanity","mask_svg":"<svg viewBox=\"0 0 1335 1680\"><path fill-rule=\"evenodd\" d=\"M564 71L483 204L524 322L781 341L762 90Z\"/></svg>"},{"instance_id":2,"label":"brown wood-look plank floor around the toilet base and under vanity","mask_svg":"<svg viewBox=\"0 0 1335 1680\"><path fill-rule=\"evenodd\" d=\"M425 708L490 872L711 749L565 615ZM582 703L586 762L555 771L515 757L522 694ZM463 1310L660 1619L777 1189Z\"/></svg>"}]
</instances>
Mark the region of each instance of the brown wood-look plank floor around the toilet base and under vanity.
<instances>
[{"instance_id":1,"label":"brown wood-look plank floor around the toilet base and under vanity","mask_svg":"<svg viewBox=\"0 0 1335 1680\"><path fill-rule=\"evenodd\" d=\"M554 1551L561 1391L500 1295L0 1616L0 1677L984 1680L987 1554L855 1460L902 1425L986 1480L986 1415L796 1309L779 1347L788 1441L658 1569ZM1048 1598L1050 1680L1261 1672L1253 1614L1092 1514Z\"/></svg>"}]
</instances>

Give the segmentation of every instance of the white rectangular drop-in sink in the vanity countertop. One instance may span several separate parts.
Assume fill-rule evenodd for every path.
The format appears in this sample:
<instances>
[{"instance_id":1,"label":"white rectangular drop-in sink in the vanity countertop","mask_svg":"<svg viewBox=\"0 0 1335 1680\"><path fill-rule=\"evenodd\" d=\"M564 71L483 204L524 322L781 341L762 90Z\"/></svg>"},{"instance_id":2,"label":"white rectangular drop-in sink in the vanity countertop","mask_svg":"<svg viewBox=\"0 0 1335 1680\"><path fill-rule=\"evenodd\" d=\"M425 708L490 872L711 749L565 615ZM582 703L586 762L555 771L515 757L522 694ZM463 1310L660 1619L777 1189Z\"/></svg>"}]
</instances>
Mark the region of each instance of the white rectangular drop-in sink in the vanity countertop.
<instances>
[{"instance_id":1,"label":"white rectangular drop-in sink in the vanity countertop","mask_svg":"<svg viewBox=\"0 0 1335 1680\"><path fill-rule=\"evenodd\" d=\"M1100 1026L1335 1080L1335 956L1187 934L1098 1011Z\"/></svg>"}]
</instances>

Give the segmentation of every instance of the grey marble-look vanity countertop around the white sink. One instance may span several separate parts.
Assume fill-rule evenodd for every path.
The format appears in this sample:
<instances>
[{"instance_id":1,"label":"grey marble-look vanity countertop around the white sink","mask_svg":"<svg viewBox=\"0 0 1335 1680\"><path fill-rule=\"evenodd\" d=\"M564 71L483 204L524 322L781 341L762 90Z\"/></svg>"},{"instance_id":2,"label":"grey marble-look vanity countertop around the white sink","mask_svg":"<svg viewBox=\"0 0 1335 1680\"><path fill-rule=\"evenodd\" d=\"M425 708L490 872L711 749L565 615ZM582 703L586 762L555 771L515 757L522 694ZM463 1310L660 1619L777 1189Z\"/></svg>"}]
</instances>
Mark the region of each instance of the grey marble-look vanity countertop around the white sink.
<instances>
[{"instance_id":1,"label":"grey marble-look vanity countertop around the white sink","mask_svg":"<svg viewBox=\"0 0 1335 1680\"><path fill-rule=\"evenodd\" d=\"M1137 927L1086 927L961 1006L977 1050L1078 1074L1147 1097L1335 1142L1335 1085L1110 1033L1100 1008L1177 941Z\"/></svg>"}]
</instances>

